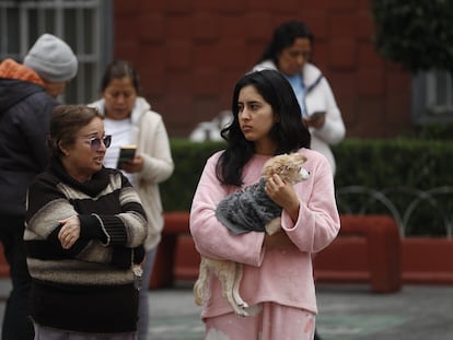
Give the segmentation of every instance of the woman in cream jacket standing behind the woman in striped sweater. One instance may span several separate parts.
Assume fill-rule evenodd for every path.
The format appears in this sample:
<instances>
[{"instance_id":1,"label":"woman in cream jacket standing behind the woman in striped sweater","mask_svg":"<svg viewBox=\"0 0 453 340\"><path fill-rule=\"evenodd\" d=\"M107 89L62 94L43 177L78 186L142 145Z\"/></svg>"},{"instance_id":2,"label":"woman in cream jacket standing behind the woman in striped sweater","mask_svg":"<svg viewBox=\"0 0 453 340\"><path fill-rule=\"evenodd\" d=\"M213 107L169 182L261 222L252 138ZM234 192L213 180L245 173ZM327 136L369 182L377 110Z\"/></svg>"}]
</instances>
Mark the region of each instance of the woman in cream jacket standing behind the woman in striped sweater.
<instances>
[{"instance_id":1,"label":"woman in cream jacket standing behind the woman in striped sweater","mask_svg":"<svg viewBox=\"0 0 453 340\"><path fill-rule=\"evenodd\" d=\"M102 98L90 106L96 107L104 116L105 131L114 137L104 165L117 167L120 146L137 145L135 157L126 162L121 169L138 190L148 216L144 286L140 290L138 324L138 339L148 340L148 286L163 228L159 184L172 175L174 163L162 116L139 96L139 75L130 62L115 60L106 67L101 93Z\"/></svg>"}]
</instances>

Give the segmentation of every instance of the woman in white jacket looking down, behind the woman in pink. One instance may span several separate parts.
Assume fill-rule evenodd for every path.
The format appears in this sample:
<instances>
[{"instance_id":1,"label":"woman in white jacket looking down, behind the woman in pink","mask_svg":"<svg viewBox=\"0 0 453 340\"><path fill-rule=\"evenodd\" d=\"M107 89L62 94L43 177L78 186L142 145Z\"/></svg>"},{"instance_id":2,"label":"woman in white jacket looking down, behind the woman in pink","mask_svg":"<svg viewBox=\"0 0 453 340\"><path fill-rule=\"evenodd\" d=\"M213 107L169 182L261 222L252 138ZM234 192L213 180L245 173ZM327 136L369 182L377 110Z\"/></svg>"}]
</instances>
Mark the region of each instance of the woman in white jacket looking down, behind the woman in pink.
<instances>
[{"instance_id":1,"label":"woman in white jacket looking down, behind the woman in pink","mask_svg":"<svg viewBox=\"0 0 453 340\"><path fill-rule=\"evenodd\" d=\"M346 133L341 113L327 79L311 63L313 34L299 21L278 26L253 70L275 69L290 82L312 134L311 149L324 154L335 175L336 163L329 145Z\"/></svg>"}]
</instances>

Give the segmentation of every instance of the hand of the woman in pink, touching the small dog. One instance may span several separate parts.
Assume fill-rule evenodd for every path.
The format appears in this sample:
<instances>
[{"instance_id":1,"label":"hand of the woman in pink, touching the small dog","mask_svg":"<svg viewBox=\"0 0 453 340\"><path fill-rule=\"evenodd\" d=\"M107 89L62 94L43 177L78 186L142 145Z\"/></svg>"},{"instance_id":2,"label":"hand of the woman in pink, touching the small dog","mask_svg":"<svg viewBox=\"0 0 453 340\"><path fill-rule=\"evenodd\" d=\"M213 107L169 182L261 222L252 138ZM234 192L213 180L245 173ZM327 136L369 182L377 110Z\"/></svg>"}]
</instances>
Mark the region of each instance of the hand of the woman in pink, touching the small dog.
<instances>
[{"instance_id":1,"label":"hand of the woman in pink, touching the small dog","mask_svg":"<svg viewBox=\"0 0 453 340\"><path fill-rule=\"evenodd\" d=\"M300 202L291 184L284 183L277 174L266 180L266 194L280 206L295 223L299 218Z\"/></svg>"}]
</instances>

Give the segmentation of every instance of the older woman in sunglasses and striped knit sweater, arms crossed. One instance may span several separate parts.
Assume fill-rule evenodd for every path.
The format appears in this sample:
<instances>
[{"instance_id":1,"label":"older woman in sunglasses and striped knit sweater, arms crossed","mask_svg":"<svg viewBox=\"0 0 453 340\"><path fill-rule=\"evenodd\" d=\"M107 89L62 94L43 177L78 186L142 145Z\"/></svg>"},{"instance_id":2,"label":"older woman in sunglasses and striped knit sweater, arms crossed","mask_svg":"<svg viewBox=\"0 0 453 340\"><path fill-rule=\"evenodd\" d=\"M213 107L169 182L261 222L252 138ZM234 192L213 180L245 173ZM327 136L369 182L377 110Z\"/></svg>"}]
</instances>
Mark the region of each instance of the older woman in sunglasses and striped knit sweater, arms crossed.
<instances>
[{"instance_id":1,"label":"older woman in sunglasses and striped knit sweater, arms crossed","mask_svg":"<svg viewBox=\"0 0 453 340\"><path fill-rule=\"evenodd\" d=\"M24 241L35 339L136 339L147 218L95 108L57 106L51 160L28 188Z\"/></svg>"}]
</instances>

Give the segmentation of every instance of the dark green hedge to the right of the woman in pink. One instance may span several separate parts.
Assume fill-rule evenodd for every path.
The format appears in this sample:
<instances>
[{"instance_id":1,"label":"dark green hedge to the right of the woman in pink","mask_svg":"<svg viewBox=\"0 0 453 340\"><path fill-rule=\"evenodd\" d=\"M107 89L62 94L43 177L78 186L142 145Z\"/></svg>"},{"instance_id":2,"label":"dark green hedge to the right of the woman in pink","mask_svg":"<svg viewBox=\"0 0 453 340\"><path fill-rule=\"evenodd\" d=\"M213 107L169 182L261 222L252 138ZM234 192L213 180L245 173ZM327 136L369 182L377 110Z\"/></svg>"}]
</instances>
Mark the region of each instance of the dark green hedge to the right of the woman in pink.
<instances>
[{"instance_id":1,"label":"dark green hedge to the right of the woman in pink","mask_svg":"<svg viewBox=\"0 0 453 340\"><path fill-rule=\"evenodd\" d=\"M451 236L452 141L350 139L333 151L340 212L394 216L392 206L405 235Z\"/></svg>"}]
</instances>

